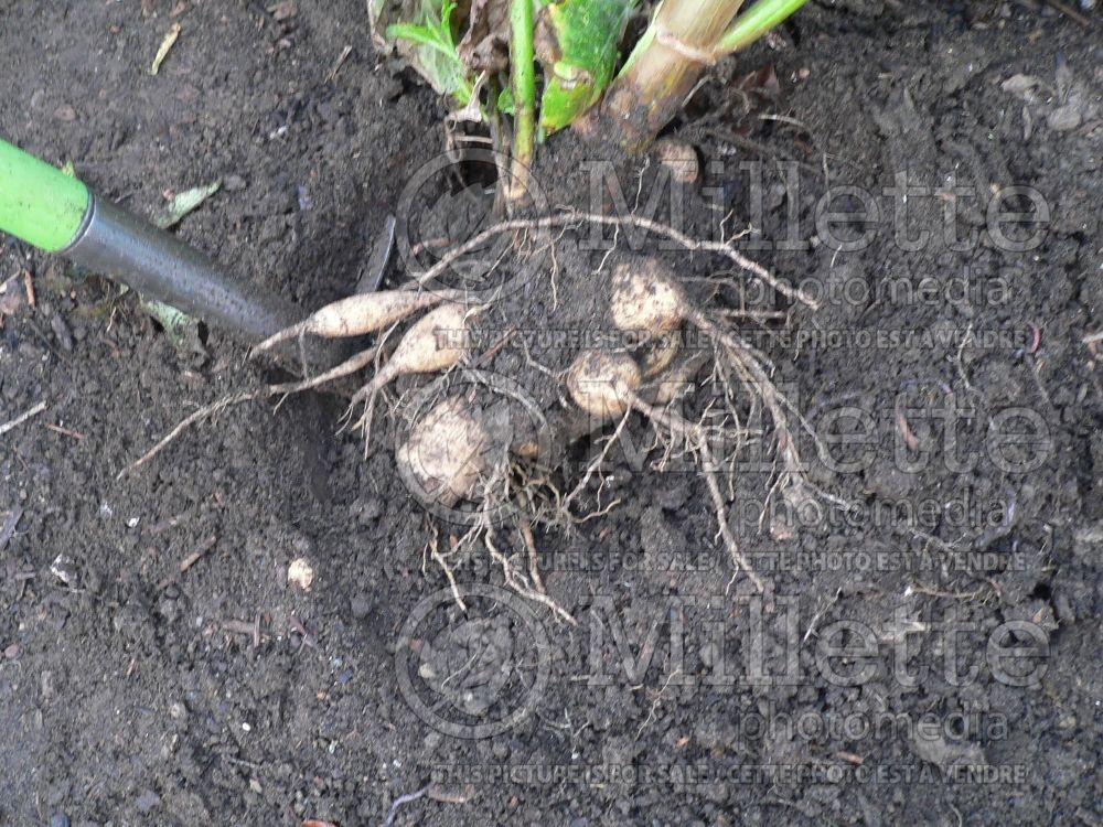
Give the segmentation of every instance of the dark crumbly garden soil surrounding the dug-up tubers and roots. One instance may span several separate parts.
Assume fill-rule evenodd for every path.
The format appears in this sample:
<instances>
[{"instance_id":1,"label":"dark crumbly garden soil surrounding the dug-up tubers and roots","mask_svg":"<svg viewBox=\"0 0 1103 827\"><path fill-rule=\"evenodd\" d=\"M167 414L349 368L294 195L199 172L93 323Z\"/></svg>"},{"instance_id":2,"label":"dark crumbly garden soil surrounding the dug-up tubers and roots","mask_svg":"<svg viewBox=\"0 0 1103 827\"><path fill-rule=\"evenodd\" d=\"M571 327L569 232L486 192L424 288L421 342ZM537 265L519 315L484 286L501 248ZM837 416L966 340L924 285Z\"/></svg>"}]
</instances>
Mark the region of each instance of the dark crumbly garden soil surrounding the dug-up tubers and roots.
<instances>
[{"instance_id":1,"label":"dark crumbly garden soil surrounding the dug-up tubers and roots","mask_svg":"<svg viewBox=\"0 0 1103 827\"><path fill-rule=\"evenodd\" d=\"M811 3L671 126L695 183L574 135L540 150L549 207L751 226L739 249L818 299L577 226L554 261L533 237L503 262L485 322L564 334L481 364L538 418L563 404L534 364L606 324L630 253L729 311L822 443L797 429L818 493L768 497L775 434L735 406L730 517L764 594L642 417L575 503L593 516L534 528L577 625L396 472L387 411L424 382L381 405L367 460L344 401L308 394L120 479L277 374L216 330L174 345L133 294L4 238L0 422L45 408L0 436L0 823L1103 824L1103 385L1082 342L1103 329L1101 25ZM446 109L354 0L0 0L0 63L6 139L143 215L221 181L175 232L307 307L372 277L388 215L390 283L415 224L454 239L464 193L485 202L472 155L433 165ZM722 404L708 373L687 412ZM528 573L508 526L499 551Z\"/></svg>"}]
</instances>

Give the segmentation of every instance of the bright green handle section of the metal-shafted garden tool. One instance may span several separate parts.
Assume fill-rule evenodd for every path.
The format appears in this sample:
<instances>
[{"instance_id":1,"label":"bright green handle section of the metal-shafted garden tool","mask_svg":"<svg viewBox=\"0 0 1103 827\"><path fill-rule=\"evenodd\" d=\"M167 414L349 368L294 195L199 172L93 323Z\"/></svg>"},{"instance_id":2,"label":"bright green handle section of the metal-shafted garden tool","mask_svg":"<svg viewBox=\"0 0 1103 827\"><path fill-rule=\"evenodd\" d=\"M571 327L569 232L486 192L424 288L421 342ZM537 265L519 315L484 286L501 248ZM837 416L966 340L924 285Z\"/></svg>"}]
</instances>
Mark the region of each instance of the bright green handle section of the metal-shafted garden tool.
<instances>
[{"instance_id":1,"label":"bright green handle section of the metal-shafted garden tool","mask_svg":"<svg viewBox=\"0 0 1103 827\"><path fill-rule=\"evenodd\" d=\"M76 238L88 187L0 139L0 230L57 253Z\"/></svg>"}]
</instances>

